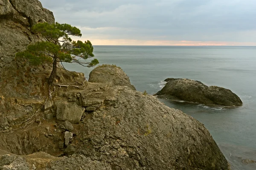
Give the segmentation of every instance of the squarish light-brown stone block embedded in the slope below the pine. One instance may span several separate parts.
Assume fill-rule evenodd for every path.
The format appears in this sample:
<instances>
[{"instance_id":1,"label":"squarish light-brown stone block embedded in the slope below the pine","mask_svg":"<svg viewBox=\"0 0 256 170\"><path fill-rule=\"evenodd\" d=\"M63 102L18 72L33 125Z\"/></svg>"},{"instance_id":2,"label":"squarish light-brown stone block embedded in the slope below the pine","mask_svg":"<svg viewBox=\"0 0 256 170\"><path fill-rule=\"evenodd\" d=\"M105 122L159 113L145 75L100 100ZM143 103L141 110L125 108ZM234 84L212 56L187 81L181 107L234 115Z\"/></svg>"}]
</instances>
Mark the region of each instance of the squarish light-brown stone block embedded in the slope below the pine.
<instances>
[{"instance_id":1,"label":"squarish light-brown stone block embedded in the slope below the pine","mask_svg":"<svg viewBox=\"0 0 256 170\"><path fill-rule=\"evenodd\" d=\"M85 111L84 108L73 102L57 102L57 114L58 120L68 120L73 124L78 124Z\"/></svg>"}]
</instances>

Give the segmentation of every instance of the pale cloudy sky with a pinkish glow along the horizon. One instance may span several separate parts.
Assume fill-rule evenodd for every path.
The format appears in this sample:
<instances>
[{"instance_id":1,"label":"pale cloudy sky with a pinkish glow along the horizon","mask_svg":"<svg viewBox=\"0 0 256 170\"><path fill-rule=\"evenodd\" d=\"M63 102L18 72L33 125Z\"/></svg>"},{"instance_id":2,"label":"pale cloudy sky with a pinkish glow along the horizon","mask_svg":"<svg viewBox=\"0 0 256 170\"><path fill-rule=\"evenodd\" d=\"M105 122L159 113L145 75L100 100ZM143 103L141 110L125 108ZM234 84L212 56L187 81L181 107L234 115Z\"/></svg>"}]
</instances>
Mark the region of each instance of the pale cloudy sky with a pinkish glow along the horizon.
<instances>
[{"instance_id":1,"label":"pale cloudy sky with a pinkish glow along the horizon","mask_svg":"<svg viewBox=\"0 0 256 170\"><path fill-rule=\"evenodd\" d=\"M256 46L256 0L40 0L93 45Z\"/></svg>"}]
</instances>

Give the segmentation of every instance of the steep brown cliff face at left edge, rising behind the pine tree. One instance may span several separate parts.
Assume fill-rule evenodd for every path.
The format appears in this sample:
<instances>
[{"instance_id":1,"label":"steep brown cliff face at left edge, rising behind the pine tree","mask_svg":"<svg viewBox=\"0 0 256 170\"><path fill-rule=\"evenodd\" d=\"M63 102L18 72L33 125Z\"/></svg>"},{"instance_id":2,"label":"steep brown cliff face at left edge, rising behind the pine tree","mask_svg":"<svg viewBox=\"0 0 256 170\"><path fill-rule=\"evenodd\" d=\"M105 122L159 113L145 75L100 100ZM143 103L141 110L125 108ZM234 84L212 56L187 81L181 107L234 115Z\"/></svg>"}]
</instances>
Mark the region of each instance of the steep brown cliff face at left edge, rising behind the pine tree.
<instances>
[{"instance_id":1,"label":"steep brown cliff face at left edge, rising behind the pine tree","mask_svg":"<svg viewBox=\"0 0 256 170\"><path fill-rule=\"evenodd\" d=\"M16 61L15 53L41 40L31 32L38 22L54 23L38 0L0 0L0 130L20 123L44 102L47 66Z\"/></svg>"}]
</instances>

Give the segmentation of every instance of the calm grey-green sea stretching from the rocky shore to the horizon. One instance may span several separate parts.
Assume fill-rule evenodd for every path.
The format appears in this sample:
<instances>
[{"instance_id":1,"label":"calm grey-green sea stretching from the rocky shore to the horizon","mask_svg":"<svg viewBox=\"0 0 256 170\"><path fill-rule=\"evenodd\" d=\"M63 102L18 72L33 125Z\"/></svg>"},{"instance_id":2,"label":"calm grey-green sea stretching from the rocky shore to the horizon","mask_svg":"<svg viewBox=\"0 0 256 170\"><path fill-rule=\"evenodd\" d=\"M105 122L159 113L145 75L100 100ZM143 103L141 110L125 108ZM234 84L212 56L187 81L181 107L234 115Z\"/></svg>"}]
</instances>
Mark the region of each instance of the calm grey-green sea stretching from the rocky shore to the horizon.
<instances>
[{"instance_id":1,"label":"calm grey-green sea stretching from the rocky shore to the horizon","mask_svg":"<svg viewBox=\"0 0 256 170\"><path fill-rule=\"evenodd\" d=\"M209 108L204 105L161 100L202 122L212 134L232 170L256 170L256 47L192 46L94 46L100 64L120 66L137 91L155 94L166 78L187 78L228 88L237 94L239 108ZM93 68L65 64L70 71L89 78Z\"/></svg>"}]
</instances>

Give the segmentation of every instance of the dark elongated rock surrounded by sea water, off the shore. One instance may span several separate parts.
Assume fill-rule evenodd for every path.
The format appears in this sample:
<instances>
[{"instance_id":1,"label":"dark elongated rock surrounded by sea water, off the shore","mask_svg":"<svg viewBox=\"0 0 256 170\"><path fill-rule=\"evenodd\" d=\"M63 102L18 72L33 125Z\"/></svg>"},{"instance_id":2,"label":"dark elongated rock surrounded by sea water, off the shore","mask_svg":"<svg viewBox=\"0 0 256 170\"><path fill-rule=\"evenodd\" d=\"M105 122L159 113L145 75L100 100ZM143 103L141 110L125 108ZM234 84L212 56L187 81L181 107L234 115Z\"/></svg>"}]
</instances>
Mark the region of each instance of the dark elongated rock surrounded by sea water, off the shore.
<instances>
[{"instance_id":1,"label":"dark elongated rock surrounded by sea water, off the shore","mask_svg":"<svg viewBox=\"0 0 256 170\"><path fill-rule=\"evenodd\" d=\"M204 105L241 106L242 101L232 91L218 86L204 85L202 82L191 79L168 78L168 81L157 97L195 102Z\"/></svg>"}]
</instances>

